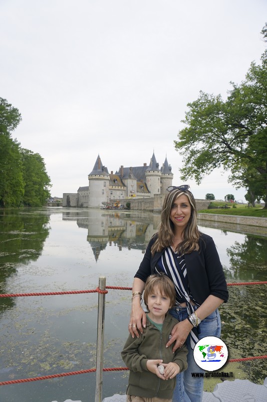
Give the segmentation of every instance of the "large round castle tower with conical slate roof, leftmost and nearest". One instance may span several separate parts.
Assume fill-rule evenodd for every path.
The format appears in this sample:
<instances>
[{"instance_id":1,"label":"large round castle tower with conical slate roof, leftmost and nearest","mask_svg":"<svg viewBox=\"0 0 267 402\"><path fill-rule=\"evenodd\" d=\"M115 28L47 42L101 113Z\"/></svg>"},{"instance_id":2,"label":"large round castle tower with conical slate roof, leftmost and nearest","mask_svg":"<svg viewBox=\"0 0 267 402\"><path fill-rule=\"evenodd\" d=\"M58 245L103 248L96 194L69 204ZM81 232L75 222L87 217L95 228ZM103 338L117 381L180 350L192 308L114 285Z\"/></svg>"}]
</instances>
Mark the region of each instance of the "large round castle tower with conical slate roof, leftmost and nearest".
<instances>
[{"instance_id":1,"label":"large round castle tower with conical slate roof, leftmost and nearest","mask_svg":"<svg viewBox=\"0 0 267 402\"><path fill-rule=\"evenodd\" d=\"M108 169L102 165L100 156L98 155L95 166L88 175L89 180L89 208L103 207L102 203L109 200L109 180L110 175Z\"/></svg>"}]
</instances>

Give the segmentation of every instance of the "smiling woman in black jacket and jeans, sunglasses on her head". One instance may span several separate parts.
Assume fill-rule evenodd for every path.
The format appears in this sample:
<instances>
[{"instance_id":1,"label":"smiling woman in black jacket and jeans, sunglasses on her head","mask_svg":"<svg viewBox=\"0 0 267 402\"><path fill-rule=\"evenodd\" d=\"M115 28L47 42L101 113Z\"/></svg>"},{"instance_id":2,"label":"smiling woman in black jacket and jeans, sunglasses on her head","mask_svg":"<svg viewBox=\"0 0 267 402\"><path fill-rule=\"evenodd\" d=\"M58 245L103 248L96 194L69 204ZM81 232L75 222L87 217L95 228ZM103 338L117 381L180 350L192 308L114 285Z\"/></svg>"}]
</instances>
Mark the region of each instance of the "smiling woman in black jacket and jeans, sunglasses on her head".
<instances>
[{"instance_id":1,"label":"smiling woman in black jacket and jeans, sunglasses on her head","mask_svg":"<svg viewBox=\"0 0 267 402\"><path fill-rule=\"evenodd\" d=\"M135 274L129 332L139 337L146 326L140 306L146 278L165 272L174 282L176 306L170 313L179 320L166 347L175 351L184 343L188 348L188 369L177 375L174 402L201 402L203 372L193 358L193 348L205 336L220 336L218 307L227 302L228 291L213 239L199 232L196 204L189 185L168 187L158 232L150 240L143 261Z\"/></svg>"}]
</instances>

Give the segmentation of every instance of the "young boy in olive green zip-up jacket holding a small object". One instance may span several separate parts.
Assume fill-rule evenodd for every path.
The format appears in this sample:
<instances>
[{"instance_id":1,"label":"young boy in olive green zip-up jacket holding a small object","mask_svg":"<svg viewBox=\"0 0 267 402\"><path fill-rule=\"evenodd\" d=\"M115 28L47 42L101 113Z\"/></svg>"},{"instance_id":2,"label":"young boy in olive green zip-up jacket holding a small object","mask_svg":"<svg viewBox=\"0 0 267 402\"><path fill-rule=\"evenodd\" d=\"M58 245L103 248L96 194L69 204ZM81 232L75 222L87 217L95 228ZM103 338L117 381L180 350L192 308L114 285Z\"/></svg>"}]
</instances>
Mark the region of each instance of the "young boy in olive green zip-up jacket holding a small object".
<instances>
[{"instance_id":1,"label":"young boy in olive green zip-up jacket holding a small object","mask_svg":"<svg viewBox=\"0 0 267 402\"><path fill-rule=\"evenodd\" d=\"M187 348L175 353L166 348L172 328L178 321L169 313L175 305L173 282L164 274L150 275L144 290L148 310L147 325L139 338L129 335L121 352L130 369L127 402L160 402L172 399L176 375L187 368ZM161 367L160 367L160 366ZM163 367L162 367L163 366ZM160 373L163 372L163 374Z\"/></svg>"}]
</instances>

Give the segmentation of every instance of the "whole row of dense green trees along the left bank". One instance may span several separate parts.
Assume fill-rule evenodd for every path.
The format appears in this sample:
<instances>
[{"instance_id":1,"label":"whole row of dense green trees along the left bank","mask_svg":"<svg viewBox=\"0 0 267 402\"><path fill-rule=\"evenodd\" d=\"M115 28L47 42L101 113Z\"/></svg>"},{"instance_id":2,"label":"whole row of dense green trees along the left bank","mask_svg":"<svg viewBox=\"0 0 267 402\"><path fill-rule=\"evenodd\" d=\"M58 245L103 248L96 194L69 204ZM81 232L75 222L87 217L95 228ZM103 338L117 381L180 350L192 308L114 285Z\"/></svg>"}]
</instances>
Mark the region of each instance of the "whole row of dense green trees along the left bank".
<instances>
[{"instance_id":1,"label":"whole row of dense green trees along the left bank","mask_svg":"<svg viewBox=\"0 0 267 402\"><path fill-rule=\"evenodd\" d=\"M50 197L50 177L39 153L11 137L22 117L0 97L0 208L41 207Z\"/></svg>"}]
</instances>

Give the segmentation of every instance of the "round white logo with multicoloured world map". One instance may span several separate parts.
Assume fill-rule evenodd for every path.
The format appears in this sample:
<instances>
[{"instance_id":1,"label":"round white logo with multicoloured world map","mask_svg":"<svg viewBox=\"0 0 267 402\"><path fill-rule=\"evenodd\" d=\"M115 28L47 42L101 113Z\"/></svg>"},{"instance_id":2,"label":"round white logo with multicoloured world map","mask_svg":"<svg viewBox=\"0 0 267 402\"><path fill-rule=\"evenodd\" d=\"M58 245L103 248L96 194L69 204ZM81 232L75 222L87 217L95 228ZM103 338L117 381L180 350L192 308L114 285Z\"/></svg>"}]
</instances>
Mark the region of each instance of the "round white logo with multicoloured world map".
<instances>
[{"instance_id":1,"label":"round white logo with multicoloured world map","mask_svg":"<svg viewBox=\"0 0 267 402\"><path fill-rule=\"evenodd\" d=\"M227 346L216 336L206 336L200 339L194 347L195 362L206 371L218 370L224 366L227 357Z\"/></svg>"}]
</instances>

